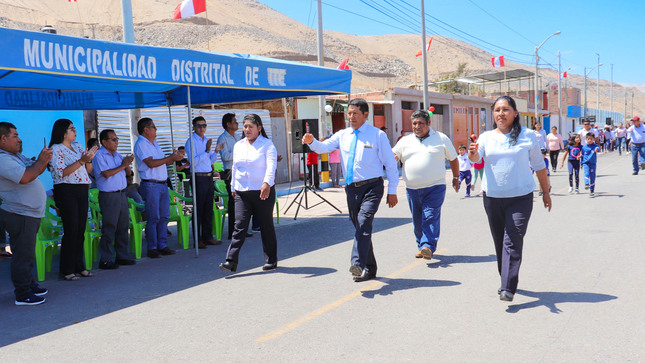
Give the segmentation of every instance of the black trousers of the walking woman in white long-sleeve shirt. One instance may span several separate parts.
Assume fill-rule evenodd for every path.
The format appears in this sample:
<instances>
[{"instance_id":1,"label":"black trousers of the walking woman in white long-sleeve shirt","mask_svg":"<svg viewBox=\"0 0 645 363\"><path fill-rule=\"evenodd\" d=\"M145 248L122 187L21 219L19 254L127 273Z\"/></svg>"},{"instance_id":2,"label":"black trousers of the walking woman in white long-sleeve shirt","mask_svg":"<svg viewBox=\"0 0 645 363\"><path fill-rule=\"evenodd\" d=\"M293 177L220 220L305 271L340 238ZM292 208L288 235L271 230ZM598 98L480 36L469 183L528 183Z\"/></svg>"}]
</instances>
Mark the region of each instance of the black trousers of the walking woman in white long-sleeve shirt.
<instances>
[{"instance_id":1,"label":"black trousers of the walking woman in white long-sleeve shirt","mask_svg":"<svg viewBox=\"0 0 645 363\"><path fill-rule=\"evenodd\" d=\"M240 249L246 240L251 215L260 223L264 262L278 262L278 241L273 226L273 208L275 206L275 186L271 187L269 197L260 199L259 190L235 192L235 232L226 254L227 261L238 261Z\"/></svg>"}]
</instances>

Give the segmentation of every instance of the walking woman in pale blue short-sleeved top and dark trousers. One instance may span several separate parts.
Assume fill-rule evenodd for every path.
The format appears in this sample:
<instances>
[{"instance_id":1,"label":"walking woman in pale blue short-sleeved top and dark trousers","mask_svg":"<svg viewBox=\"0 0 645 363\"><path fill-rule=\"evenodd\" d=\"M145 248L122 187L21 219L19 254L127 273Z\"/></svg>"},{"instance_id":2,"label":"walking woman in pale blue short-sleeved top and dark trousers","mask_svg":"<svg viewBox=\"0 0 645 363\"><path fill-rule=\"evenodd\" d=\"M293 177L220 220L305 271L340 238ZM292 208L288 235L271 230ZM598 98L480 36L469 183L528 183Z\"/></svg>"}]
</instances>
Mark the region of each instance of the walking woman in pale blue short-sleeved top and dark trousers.
<instances>
[{"instance_id":1,"label":"walking woman in pale blue short-sleeved top and dark trousers","mask_svg":"<svg viewBox=\"0 0 645 363\"><path fill-rule=\"evenodd\" d=\"M481 190L501 276L497 292L500 300L513 301L524 235L533 211L535 182L531 167L544 191L544 207L549 211L551 196L540 145L535 132L520 125L515 100L499 97L493 104L493 118L496 128L480 135L477 143L471 143L468 156L472 162L486 159Z\"/></svg>"}]
</instances>

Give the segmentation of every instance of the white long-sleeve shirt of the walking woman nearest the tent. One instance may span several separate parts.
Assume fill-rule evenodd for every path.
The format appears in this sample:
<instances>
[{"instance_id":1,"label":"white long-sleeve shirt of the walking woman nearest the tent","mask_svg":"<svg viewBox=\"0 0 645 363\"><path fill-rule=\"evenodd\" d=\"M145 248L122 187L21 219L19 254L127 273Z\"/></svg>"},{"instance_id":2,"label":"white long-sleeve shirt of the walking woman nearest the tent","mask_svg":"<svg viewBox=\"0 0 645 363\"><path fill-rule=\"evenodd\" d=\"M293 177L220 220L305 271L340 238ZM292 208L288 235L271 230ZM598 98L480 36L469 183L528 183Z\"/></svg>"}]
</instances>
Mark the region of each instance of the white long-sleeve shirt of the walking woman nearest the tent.
<instances>
[{"instance_id":1,"label":"white long-sleeve shirt of the walking woman nearest the tent","mask_svg":"<svg viewBox=\"0 0 645 363\"><path fill-rule=\"evenodd\" d=\"M262 135L250 144L244 138L233 147L231 191L260 190L262 183L275 184L278 151L273 142Z\"/></svg>"}]
</instances>

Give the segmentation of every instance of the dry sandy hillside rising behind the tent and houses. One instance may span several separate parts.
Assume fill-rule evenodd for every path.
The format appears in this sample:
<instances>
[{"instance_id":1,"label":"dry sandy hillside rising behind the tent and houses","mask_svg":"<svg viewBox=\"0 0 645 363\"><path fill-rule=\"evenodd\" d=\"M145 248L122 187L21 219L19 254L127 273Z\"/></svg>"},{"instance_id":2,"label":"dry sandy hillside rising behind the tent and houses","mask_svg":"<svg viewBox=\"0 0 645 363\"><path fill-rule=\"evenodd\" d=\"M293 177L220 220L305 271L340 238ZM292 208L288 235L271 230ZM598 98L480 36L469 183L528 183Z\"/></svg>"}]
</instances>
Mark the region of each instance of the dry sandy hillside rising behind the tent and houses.
<instances>
[{"instance_id":1,"label":"dry sandy hillside rising behind the tent and houses","mask_svg":"<svg viewBox=\"0 0 645 363\"><path fill-rule=\"evenodd\" d=\"M132 12L139 44L183 47L230 53L249 53L307 63L316 62L316 29L299 23L255 0L207 0L206 14L171 20L180 0L135 0ZM120 0L0 0L0 26L39 30L54 26L59 34L121 41ZM422 79L421 49L416 35L358 36L333 31L324 35L325 65L336 67L349 58L352 92L407 87ZM467 74L492 71L493 55L459 40L434 36L429 52L430 80L455 72L466 63ZM533 67L506 62L506 69ZM542 84L557 82L557 71L541 69ZM583 77L571 74L569 85L582 88ZM639 87L640 86L640 87ZM524 89L528 84L522 85ZM495 87L493 87L495 88ZM631 116L645 114L643 85L614 83L613 109ZM595 107L596 80L587 79L589 107ZM600 106L609 109L610 82L600 81Z\"/></svg>"}]
</instances>

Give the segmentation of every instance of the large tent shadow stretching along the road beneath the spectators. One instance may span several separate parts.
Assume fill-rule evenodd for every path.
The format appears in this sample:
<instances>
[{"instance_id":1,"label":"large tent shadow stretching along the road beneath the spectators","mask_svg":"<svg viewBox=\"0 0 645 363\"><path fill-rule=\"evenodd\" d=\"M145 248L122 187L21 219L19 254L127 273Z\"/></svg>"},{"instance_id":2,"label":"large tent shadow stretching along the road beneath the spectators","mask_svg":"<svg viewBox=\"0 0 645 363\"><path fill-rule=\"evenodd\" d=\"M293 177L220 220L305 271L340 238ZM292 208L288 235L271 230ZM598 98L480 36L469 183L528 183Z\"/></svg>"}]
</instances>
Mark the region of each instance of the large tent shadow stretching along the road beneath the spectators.
<instances>
[{"instance_id":1,"label":"large tent shadow stretching along the road beneath the spectators","mask_svg":"<svg viewBox=\"0 0 645 363\"><path fill-rule=\"evenodd\" d=\"M374 232L407 223L410 223L409 218L379 217L374 223ZM346 215L337 215L276 225L276 234L278 258L286 260L346 242L353 238L354 228ZM168 241L171 248L177 248L174 236ZM122 266L117 270L95 269L94 277L79 281L57 280L56 264L41 283L41 286L49 289L47 302L25 307L14 305L13 286L9 278L10 259L2 259L0 310L3 313L0 314L0 326L11 328L3 329L0 334L0 347L225 278L229 276L228 273L220 270L218 265L225 259L227 242L225 240L220 246L200 250L198 258L193 250L178 250L174 256L154 260L143 258L134 266ZM347 253L349 256L349 250ZM256 269L262 264L262 242L259 234L256 234L244 244L238 271L247 271L243 276L258 274ZM278 267L273 273L301 274L305 275L303 278L311 278L333 272L336 272L333 268L303 266ZM264 272L267 278L271 273Z\"/></svg>"}]
</instances>

